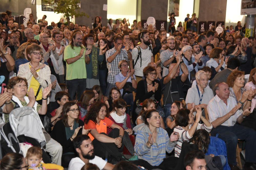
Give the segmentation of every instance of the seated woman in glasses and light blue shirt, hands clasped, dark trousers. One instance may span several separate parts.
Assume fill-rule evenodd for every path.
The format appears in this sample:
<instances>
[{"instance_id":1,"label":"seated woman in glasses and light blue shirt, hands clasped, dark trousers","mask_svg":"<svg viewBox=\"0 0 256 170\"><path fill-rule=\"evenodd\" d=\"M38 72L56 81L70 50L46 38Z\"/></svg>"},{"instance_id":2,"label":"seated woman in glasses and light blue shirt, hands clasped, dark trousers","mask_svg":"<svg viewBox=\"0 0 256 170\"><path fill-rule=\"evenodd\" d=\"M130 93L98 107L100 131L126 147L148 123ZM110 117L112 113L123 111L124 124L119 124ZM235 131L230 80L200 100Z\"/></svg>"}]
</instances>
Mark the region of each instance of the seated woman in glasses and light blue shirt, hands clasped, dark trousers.
<instances>
[{"instance_id":1,"label":"seated woman in glasses and light blue shirt, hands clasped, dark trousers","mask_svg":"<svg viewBox=\"0 0 256 170\"><path fill-rule=\"evenodd\" d=\"M115 75L115 85L120 90L122 98L127 104L131 105L131 110L133 110L132 91L135 91L137 88L134 69L129 69L129 64L126 60L121 60L118 63L118 68L121 70L121 72Z\"/></svg>"}]
</instances>

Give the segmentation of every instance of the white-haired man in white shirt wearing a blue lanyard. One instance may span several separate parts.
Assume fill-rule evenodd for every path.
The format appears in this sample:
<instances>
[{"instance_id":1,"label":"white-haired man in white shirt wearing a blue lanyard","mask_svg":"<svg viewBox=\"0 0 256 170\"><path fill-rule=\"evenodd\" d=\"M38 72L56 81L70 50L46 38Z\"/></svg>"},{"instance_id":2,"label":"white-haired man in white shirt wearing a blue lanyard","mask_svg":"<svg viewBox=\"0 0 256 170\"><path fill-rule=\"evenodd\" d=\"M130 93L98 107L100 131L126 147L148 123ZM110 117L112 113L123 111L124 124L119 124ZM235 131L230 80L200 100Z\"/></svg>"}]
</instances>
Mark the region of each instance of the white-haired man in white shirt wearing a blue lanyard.
<instances>
[{"instance_id":1,"label":"white-haired man in white shirt wearing a blue lanyard","mask_svg":"<svg viewBox=\"0 0 256 170\"><path fill-rule=\"evenodd\" d=\"M188 89L186 104L187 108L192 109L192 103L195 103L195 109L206 109L209 101L214 97L212 90L209 87L206 87L208 84L208 77L206 72L200 70L196 73L196 86L193 86ZM202 115L205 115L204 110Z\"/></svg>"}]
</instances>

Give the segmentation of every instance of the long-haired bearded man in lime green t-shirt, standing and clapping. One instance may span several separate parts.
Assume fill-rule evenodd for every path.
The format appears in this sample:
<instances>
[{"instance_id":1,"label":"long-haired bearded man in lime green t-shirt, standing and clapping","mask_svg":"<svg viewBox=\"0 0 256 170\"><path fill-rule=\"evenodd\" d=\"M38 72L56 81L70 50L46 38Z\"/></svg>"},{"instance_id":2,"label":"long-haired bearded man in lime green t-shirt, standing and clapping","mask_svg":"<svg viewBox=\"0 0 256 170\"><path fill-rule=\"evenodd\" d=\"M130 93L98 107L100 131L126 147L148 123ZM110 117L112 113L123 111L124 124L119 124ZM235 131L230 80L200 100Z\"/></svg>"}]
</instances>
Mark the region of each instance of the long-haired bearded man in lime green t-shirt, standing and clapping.
<instances>
[{"instance_id":1,"label":"long-haired bearded man in lime green t-shirt, standing and clapping","mask_svg":"<svg viewBox=\"0 0 256 170\"><path fill-rule=\"evenodd\" d=\"M64 50L64 61L67 63L66 84L70 98L73 100L77 92L79 100L86 90L86 66L90 62L91 49L86 50L82 45L82 33L76 32L72 36L71 43Z\"/></svg>"}]
</instances>

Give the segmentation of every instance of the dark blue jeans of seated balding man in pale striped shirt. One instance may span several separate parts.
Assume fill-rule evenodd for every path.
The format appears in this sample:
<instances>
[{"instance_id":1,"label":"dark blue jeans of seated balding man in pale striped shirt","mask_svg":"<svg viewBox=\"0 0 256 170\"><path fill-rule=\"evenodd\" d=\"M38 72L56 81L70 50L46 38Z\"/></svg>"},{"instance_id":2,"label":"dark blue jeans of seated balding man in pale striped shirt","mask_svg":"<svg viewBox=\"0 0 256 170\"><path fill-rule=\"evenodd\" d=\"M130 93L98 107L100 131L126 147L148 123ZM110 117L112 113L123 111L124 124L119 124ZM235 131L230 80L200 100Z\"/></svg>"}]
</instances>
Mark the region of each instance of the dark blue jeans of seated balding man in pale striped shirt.
<instances>
[{"instance_id":1,"label":"dark blue jeans of seated balding man in pale striped shirt","mask_svg":"<svg viewBox=\"0 0 256 170\"><path fill-rule=\"evenodd\" d=\"M256 163L256 131L235 124L234 126L218 126L211 130L211 135L225 141L227 146L228 163L236 165L237 140L245 140L245 159L246 162Z\"/></svg>"}]
</instances>

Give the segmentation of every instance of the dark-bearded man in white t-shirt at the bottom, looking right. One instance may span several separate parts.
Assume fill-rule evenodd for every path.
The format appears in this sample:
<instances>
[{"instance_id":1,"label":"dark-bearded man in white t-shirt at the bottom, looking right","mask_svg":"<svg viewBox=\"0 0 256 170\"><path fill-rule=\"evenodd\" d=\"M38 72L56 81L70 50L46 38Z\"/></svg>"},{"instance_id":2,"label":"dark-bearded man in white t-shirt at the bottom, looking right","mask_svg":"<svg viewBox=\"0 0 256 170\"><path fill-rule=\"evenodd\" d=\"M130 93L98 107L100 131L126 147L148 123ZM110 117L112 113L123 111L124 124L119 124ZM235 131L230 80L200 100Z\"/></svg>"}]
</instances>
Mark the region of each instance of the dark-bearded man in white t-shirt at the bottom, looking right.
<instances>
[{"instance_id":1,"label":"dark-bearded man in white t-shirt at the bottom, looking right","mask_svg":"<svg viewBox=\"0 0 256 170\"><path fill-rule=\"evenodd\" d=\"M79 157L71 159L68 170L81 169L85 164L92 163L99 169L112 170L114 165L95 156L92 141L88 135L79 135L73 140L74 148Z\"/></svg>"}]
</instances>

